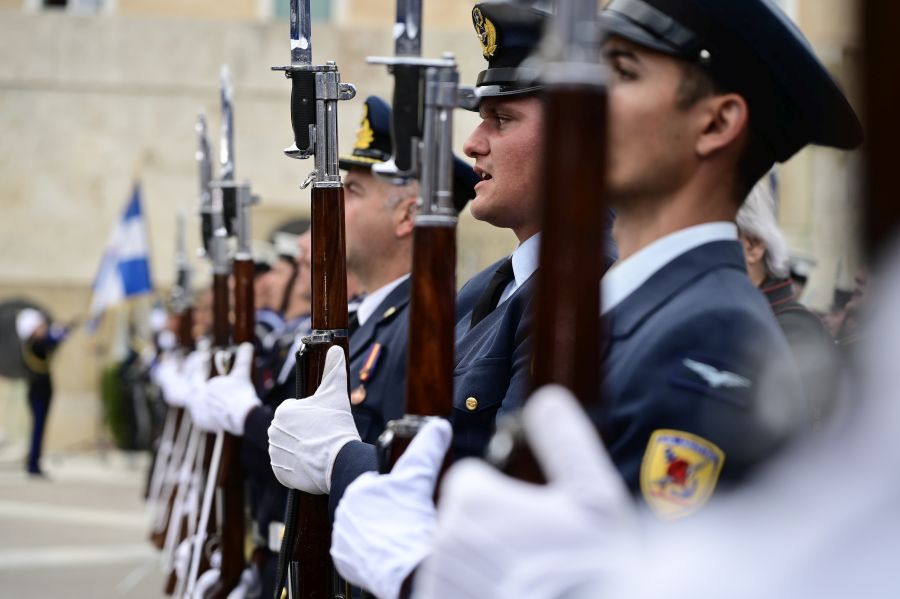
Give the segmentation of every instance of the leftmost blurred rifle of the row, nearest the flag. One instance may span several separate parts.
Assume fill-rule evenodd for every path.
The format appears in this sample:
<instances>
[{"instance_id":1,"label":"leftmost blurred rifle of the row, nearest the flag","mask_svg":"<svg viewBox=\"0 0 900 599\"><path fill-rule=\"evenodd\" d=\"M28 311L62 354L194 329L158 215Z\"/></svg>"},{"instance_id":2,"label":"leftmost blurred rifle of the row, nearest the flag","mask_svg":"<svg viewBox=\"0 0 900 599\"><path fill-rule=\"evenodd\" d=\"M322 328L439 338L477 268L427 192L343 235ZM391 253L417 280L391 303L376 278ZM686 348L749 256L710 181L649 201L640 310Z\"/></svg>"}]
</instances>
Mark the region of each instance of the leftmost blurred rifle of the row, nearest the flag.
<instances>
[{"instance_id":1,"label":"leftmost blurred rifle of the row, nearest the flag","mask_svg":"<svg viewBox=\"0 0 900 599\"><path fill-rule=\"evenodd\" d=\"M171 306L178 317L177 351L186 356L194 349L194 308L191 305L190 265L185 246L185 214L179 211L176 220L175 266L176 280L172 288ZM184 456L190 424L184 419L184 409L168 407L166 421L160 435L159 449L150 478L150 505L153 509L150 540L162 549L168 533L169 515L175 501L178 467ZM177 431L177 433L176 433Z\"/></svg>"}]
</instances>

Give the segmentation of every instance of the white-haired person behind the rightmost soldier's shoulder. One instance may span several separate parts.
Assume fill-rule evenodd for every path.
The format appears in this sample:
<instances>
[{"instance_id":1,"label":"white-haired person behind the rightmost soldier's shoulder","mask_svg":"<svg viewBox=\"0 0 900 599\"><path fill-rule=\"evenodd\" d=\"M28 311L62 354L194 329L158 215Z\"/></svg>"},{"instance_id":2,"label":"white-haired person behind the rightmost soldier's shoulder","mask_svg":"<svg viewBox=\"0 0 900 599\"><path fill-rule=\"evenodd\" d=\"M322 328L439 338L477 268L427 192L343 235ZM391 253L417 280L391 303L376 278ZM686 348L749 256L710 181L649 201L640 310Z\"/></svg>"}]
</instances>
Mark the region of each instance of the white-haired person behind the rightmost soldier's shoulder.
<instances>
[{"instance_id":1,"label":"white-haired person behind the rightmost soldier's shoulder","mask_svg":"<svg viewBox=\"0 0 900 599\"><path fill-rule=\"evenodd\" d=\"M811 424L818 428L834 397L837 352L821 319L797 299L790 275L787 241L775 215L773 177L763 177L750 191L737 214L747 274L762 291L787 338L809 406Z\"/></svg>"}]
</instances>

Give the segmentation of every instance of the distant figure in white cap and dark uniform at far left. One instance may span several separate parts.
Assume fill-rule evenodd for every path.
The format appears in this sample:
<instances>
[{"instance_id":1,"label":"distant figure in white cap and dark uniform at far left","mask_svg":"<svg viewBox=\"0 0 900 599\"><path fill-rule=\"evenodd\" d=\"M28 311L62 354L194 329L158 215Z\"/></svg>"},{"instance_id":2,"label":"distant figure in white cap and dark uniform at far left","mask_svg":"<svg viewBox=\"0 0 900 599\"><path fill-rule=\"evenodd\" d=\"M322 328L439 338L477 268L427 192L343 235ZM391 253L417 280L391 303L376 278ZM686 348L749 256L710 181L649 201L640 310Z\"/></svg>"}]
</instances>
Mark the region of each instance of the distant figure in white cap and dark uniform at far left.
<instances>
[{"instance_id":1,"label":"distant figure in white cap and dark uniform at far left","mask_svg":"<svg viewBox=\"0 0 900 599\"><path fill-rule=\"evenodd\" d=\"M44 477L41 469L41 449L47 414L53 398L50 359L66 338L69 329L53 323L36 308L23 308L16 315L16 335L21 342L22 360L27 371L28 406L31 409L31 443L25 469L34 477Z\"/></svg>"}]
</instances>

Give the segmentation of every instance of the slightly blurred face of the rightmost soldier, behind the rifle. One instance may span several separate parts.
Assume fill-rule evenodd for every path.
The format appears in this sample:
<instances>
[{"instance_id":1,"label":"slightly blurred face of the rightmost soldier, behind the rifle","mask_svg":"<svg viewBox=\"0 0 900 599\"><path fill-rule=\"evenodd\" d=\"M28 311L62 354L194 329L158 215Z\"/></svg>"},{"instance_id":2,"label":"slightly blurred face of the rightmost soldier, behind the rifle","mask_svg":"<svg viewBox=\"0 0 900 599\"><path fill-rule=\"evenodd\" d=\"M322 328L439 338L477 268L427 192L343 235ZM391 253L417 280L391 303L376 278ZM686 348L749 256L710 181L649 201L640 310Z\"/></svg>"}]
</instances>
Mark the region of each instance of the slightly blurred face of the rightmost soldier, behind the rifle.
<instances>
[{"instance_id":1,"label":"slightly blurred face of the rightmost soldier, behind the rifle","mask_svg":"<svg viewBox=\"0 0 900 599\"><path fill-rule=\"evenodd\" d=\"M692 176L704 115L678 106L682 69L673 58L619 38L604 47L609 90L610 201L620 208L670 197Z\"/></svg>"}]
</instances>

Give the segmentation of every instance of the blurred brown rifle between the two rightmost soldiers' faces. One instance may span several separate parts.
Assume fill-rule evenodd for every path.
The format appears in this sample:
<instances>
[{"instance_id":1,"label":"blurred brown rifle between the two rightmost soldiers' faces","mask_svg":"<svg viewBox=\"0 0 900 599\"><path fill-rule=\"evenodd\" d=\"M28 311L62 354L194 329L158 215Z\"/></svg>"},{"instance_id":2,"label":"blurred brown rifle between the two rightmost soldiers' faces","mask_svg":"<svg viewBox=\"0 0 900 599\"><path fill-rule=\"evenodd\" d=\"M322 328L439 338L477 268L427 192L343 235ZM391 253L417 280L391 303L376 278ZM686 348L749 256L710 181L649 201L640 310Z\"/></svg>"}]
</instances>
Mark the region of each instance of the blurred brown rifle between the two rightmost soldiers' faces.
<instances>
[{"instance_id":1,"label":"blurred brown rifle between the two rightmost soldiers' faces","mask_svg":"<svg viewBox=\"0 0 900 599\"><path fill-rule=\"evenodd\" d=\"M600 397L600 279L606 270L600 233L608 211L606 71L600 61L592 0L557 4L543 47L543 226L532 315L532 386L558 384L584 405ZM559 140L565 140L560 144ZM511 419L498 427L488 459L531 482L543 475Z\"/></svg>"}]
</instances>

